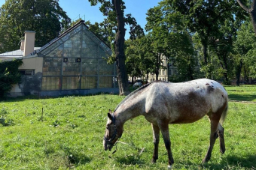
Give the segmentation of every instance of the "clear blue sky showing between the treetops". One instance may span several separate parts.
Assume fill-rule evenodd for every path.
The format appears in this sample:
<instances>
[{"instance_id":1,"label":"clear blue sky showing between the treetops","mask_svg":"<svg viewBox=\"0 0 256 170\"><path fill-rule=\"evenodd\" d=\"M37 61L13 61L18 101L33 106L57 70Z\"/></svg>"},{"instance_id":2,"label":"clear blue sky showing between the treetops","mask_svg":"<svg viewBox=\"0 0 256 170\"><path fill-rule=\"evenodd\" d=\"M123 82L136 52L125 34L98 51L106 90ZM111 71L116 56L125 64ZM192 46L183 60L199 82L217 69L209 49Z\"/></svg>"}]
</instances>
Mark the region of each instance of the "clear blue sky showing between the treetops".
<instances>
[{"instance_id":1,"label":"clear blue sky showing between the treetops","mask_svg":"<svg viewBox=\"0 0 256 170\"><path fill-rule=\"evenodd\" d=\"M145 28L147 23L146 13L151 7L157 6L161 0L123 0L126 5L125 13L132 13L139 25ZM0 7L5 4L5 0L0 0ZM90 6L88 0L59 0L59 6L66 11L70 19L76 20L79 16L91 23L102 22L104 16L99 11L98 6ZM129 37L129 29L126 28L126 39Z\"/></svg>"}]
</instances>

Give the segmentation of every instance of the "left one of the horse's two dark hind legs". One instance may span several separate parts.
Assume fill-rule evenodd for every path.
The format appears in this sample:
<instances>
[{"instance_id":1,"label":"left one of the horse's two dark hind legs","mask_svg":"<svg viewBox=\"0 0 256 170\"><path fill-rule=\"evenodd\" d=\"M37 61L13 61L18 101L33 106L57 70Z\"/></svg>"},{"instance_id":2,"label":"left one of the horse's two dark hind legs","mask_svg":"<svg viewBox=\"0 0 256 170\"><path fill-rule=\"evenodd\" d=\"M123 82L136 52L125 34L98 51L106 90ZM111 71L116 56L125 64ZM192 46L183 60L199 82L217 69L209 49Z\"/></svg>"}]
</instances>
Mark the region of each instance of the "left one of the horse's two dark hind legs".
<instances>
[{"instance_id":1,"label":"left one of the horse's two dark hind legs","mask_svg":"<svg viewBox=\"0 0 256 170\"><path fill-rule=\"evenodd\" d=\"M211 120L210 146L208 148L206 157L203 159L203 163L207 163L211 159L212 148L215 145L216 139L218 138L217 128L218 128L218 121Z\"/></svg>"}]
</instances>

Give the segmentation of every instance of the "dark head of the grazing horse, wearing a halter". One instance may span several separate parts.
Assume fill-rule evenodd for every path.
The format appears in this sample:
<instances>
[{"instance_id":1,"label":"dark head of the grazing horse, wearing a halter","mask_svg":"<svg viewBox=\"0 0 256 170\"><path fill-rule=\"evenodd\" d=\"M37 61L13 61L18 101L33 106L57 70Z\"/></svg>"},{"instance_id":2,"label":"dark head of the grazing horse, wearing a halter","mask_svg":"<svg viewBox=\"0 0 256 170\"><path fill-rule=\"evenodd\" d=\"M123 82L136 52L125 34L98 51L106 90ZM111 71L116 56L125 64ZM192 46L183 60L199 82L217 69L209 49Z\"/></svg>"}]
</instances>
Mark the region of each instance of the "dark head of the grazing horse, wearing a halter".
<instances>
[{"instance_id":1,"label":"dark head of the grazing horse, wearing a halter","mask_svg":"<svg viewBox=\"0 0 256 170\"><path fill-rule=\"evenodd\" d=\"M109 150L111 151L111 148L113 148L114 143L117 142L117 139L119 139L120 136L117 135L117 126L115 122L114 113L109 110L108 112L108 121L105 129L105 136L103 140L103 146L105 148L105 151Z\"/></svg>"}]
</instances>

